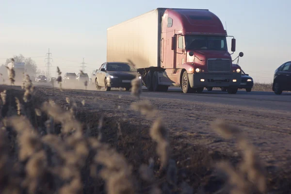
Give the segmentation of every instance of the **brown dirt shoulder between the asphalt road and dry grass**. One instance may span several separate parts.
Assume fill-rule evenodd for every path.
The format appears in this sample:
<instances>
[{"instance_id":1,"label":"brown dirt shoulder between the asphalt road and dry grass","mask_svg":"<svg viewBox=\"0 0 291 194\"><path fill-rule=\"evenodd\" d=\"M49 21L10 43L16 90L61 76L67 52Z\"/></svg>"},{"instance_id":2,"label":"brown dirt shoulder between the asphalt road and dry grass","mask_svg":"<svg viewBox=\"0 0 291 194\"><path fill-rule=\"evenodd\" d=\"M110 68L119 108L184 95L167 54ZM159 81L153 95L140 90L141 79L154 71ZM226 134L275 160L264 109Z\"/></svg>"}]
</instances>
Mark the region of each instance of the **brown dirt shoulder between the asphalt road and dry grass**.
<instances>
[{"instance_id":1,"label":"brown dirt shoulder between the asphalt road and dry grass","mask_svg":"<svg viewBox=\"0 0 291 194\"><path fill-rule=\"evenodd\" d=\"M1 86L9 89L10 86ZM20 87L13 87L20 91ZM17 93L17 92L16 92ZM78 119L94 128L100 116L104 116L103 140L123 153L134 172L142 163L155 156L155 144L149 137L149 128L155 118L132 110L131 104L139 101L135 97L123 97L90 90L51 89L36 87L38 102L53 99L66 106L66 97L77 102ZM84 105L81 105L82 101ZM190 184L195 192L215 193L223 180L215 176L213 164L226 159L232 163L240 161L239 150L234 140L225 140L212 128L211 123L222 119L239 127L248 141L255 145L260 159L268 170L268 189L273 193L289 193L291 183L291 115L284 112L249 109L222 104L204 104L161 98L148 100L162 117L170 131L171 157L178 163L178 182ZM121 125L121 140L117 141L117 123ZM92 131L94 133L94 131ZM214 173L214 174L213 174ZM162 175L160 177L162 180ZM146 186L142 187L145 193Z\"/></svg>"}]
</instances>

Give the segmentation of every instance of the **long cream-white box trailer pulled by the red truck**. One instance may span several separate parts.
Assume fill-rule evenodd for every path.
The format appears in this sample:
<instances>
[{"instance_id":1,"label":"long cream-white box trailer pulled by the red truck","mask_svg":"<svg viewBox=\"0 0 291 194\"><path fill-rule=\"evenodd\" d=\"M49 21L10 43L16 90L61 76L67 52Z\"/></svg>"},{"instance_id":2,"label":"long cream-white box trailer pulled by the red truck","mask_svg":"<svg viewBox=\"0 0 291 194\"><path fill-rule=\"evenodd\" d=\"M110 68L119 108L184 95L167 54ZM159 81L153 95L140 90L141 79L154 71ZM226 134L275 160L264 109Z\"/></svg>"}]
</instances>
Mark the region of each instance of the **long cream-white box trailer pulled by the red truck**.
<instances>
[{"instance_id":1,"label":"long cream-white box trailer pulled by the red truck","mask_svg":"<svg viewBox=\"0 0 291 194\"><path fill-rule=\"evenodd\" d=\"M107 62L132 62L136 68L160 67L161 20L158 8L107 29Z\"/></svg>"}]
</instances>

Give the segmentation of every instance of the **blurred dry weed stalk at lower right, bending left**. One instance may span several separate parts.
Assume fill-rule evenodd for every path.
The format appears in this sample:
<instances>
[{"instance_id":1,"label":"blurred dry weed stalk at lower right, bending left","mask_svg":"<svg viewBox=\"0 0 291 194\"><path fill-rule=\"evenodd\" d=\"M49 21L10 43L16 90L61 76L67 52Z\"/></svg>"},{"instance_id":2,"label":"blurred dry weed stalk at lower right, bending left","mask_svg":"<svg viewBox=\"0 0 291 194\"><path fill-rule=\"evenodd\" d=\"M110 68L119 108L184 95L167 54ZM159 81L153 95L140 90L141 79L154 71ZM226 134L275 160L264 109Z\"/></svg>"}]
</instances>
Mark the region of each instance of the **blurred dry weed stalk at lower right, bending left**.
<instances>
[{"instance_id":1,"label":"blurred dry weed stalk at lower right, bending left","mask_svg":"<svg viewBox=\"0 0 291 194\"><path fill-rule=\"evenodd\" d=\"M226 122L216 122L213 128L224 138L235 137L238 146L242 149L243 160L236 170L229 162L219 162L218 167L229 176L232 186L232 194L249 194L253 192L264 193L266 191L266 172L264 165L260 162L255 148L247 142L240 130Z\"/></svg>"}]
</instances>

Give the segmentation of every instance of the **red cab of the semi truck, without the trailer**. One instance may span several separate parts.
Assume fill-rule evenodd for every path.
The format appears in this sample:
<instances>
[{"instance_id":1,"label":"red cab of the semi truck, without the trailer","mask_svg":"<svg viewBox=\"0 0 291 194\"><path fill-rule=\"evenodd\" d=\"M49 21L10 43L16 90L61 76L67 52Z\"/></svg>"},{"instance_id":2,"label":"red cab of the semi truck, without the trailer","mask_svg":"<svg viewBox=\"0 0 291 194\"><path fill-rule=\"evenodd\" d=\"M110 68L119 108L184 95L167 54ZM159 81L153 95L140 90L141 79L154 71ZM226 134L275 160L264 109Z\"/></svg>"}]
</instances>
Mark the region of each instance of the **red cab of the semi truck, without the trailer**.
<instances>
[{"instance_id":1,"label":"red cab of the semi truck, without the trailer","mask_svg":"<svg viewBox=\"0 0 291 194\"><path fill-rule=\"evenodd\" d=\"M166 9L162 16L159 84L179 85L184 93L226 87L235 94L241 68L232 64L227 33L209 10ZM235 51L235 39L232 48Z\"/></svg>"}]
</instances>

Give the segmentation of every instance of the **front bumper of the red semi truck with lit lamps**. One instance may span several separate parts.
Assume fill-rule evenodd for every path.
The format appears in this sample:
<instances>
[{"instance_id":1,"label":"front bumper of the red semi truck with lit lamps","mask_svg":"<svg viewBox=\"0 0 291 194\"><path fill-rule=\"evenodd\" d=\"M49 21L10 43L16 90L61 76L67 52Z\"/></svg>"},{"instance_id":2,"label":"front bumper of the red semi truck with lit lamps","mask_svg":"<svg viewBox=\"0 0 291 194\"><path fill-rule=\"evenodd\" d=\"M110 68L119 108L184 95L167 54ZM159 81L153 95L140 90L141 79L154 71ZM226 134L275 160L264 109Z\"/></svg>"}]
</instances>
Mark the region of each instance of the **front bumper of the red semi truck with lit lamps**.
<instances>
[{"instance_id":1,"label":"front bumper of the red semi truck with lit lamps","mask_svg":"<svg viewBox=\"0 0 291 194\"><path fill-rule=\"evenodd\" d=\"M190 86L199 87L239 87L241 74L188 74Z\"/></svg>"}]
</instances>

